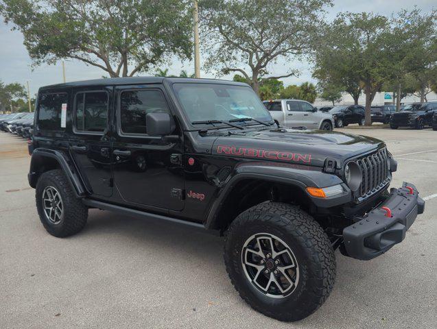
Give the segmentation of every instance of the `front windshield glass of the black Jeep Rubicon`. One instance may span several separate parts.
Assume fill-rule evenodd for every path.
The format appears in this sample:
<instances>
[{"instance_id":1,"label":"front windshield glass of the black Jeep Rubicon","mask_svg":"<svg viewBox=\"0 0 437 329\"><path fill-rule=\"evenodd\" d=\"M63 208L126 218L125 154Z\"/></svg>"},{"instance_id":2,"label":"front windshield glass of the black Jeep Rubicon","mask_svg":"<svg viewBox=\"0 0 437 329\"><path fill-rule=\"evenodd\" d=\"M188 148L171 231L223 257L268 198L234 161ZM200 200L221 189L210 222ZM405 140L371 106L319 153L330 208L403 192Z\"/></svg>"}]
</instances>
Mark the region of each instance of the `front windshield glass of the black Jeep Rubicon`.
<instances>
[{"instance_id":1,"label":"front windshield glass of the black Jeep Rubicon","mask_svg":"<svg viewBox=\"0 0 437 329\"><path fill-rule=\"evenodd\" d=\"M226 84L174 84L173 88L191 123L248 117L272 121L270 113L250 87Z\"/></svg>"}]
</instances>

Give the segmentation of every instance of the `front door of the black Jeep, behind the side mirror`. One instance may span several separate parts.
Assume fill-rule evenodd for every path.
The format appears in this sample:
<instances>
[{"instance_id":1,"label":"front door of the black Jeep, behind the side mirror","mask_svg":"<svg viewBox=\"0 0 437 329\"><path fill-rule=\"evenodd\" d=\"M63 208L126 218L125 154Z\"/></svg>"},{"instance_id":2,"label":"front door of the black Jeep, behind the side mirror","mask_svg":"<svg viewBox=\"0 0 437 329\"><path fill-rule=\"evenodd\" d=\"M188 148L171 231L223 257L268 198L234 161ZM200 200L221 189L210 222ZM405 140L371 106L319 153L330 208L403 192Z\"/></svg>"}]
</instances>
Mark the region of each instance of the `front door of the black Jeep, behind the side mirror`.
<instances>
[{"instance_id":1,"label":"front door of the black Jeep, behind the side mirror","mask_svg":"<svg viewBox=\"0 0 437 329\"><path fill-rule=\"evenodd\" d=\"M182 210L182 137L169 140L148 136L146 130L147 113L165 112L172 116L163 86L119 86L115 95L113 175L120 197L139 208ZM174 134L181 136L177 125L176 122Z\"/></svg>"}]
</instances>

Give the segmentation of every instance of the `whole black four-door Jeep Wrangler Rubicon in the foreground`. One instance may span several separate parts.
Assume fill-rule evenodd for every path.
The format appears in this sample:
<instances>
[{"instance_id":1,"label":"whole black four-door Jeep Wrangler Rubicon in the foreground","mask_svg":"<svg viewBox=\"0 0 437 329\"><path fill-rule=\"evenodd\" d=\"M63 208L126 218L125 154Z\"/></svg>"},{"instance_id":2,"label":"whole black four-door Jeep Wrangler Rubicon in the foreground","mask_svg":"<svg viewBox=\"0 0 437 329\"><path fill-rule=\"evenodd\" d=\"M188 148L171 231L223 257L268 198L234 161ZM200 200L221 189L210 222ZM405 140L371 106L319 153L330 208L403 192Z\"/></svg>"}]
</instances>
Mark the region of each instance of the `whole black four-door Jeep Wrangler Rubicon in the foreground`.
<instances>
[{"instance_id":1,"label":"whole black four-door Jeep Wrangler Rubicon in the foreground","mask_svg":"<svg viewBox=\"0 0 437 329\"><path fill-rule=\"evenodd\" d=\"M224 234L239 295L283 321L327 299L335 249L375 258L424 210L375 138L285 130L247 84L130 77L40 88L29 184L63 237L88 209ZM201 246L199 246L201 247Z\"/></svg>"}]
</instances>

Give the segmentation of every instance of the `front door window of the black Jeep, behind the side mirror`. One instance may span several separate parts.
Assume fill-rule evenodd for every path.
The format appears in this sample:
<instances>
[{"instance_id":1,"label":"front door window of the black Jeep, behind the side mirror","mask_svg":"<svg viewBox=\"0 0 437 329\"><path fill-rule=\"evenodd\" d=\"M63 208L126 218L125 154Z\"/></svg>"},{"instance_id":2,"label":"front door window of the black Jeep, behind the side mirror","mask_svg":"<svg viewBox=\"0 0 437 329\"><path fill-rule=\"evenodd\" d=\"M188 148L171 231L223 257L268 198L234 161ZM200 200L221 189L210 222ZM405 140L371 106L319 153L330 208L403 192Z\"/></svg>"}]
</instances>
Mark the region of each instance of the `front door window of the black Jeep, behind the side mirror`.
<instances>
[{"instance_id":1,"label":"front door window of the black Jeep, behind the side mirror","mask_svg":"<svg viewBox=\"0 0 437 329\"><path fill-rule=\"evenodd\" d=\"M170 114L161 90L126 90L121 92L121 132L147 134L145 129L145 115L147 113Z\"/></svg>"}]
</instances>

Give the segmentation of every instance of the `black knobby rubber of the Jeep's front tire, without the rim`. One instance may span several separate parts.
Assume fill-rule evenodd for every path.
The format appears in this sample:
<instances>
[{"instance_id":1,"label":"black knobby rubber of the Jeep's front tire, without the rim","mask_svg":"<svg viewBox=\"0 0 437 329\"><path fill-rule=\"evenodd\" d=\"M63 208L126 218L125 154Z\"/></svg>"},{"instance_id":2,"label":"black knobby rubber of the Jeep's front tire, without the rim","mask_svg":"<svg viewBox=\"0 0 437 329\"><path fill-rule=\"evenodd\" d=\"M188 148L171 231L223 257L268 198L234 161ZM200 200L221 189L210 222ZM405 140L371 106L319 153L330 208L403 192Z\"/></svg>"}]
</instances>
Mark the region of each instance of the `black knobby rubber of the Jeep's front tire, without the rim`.
<instances>
[{"instance_id":1,"label":"black knobby rubber of the Jeep's front tire, without the rim","mask_svg":"<svg viewBox=\"0 0 437 329\"><path fill-rule=\"evenodd\" d=\"M245 241L265 232L292 249L299 269L294 291L282 298L265 295L246 277L241 263ZM298 206L263 202L242 212L225 234L224 262L235 289L252 308L280 321L298 321L314 313L331 293L335 256L327 234Z\"/></svg>"}]
</instances>

